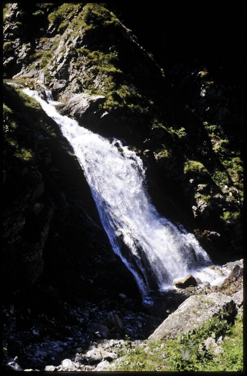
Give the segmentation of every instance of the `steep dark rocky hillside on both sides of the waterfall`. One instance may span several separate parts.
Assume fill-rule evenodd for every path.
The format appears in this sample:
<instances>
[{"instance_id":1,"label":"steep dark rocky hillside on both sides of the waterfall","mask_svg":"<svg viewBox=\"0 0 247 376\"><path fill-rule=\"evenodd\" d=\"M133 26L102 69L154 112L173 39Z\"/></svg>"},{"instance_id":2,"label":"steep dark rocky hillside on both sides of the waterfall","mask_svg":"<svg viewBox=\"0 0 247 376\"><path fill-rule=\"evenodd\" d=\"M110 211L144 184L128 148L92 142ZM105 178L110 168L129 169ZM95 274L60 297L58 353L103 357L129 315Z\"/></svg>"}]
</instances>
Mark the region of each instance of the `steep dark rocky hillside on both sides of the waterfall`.
<instances>
[{"instance_id":1,"label":"steep dark rocky hillside on both sides of the waterfall","mask_svg":"<svg viewBox=\"0 0 247 376\"><path fill-rule=\"evenodd\" d=\"M206 44L191 29L171 35L161 15L129 6L3 6L4 351L25 367L34 357L29 343L52 340L64 351L56 341L74 338L73 326L84 333L75 347L97 332L147 338L166 313L143 312L73 151L23 87L49 88L62 113L124 139L143 159L159 212L193 232L213 262L242 258L241 52L205 30Z\"/></svg>"}]
</instances>

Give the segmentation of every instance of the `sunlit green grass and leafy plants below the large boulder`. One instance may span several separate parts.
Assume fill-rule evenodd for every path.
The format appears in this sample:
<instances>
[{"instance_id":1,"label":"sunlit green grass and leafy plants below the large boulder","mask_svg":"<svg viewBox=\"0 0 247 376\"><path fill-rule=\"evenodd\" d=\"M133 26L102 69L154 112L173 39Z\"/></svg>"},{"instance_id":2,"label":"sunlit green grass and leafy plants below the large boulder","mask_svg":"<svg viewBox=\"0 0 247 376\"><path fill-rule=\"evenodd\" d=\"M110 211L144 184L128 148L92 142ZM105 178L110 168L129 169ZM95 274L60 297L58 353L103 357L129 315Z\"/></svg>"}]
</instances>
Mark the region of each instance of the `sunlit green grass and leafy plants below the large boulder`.
<instances>
[{"instance_id":1,"label":"sunlit green grass and leafy plants below the large boulder","mask_svg":"<svg viewBox=\"0 0 247 376\"><path fill-rule=\"evenodd\" d=\"M220 343L221 352L215 354L206 346L204 341L208 337ZM120 349L123 358L113 366L113 371L243 371L243 315L237 316L233 325L223 315L212 317L175 340L149 342L148 347L128 345Z\"/></svg>"}]
</instances>

